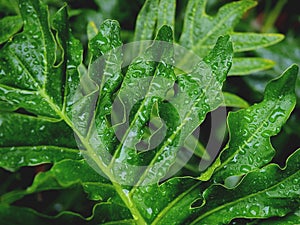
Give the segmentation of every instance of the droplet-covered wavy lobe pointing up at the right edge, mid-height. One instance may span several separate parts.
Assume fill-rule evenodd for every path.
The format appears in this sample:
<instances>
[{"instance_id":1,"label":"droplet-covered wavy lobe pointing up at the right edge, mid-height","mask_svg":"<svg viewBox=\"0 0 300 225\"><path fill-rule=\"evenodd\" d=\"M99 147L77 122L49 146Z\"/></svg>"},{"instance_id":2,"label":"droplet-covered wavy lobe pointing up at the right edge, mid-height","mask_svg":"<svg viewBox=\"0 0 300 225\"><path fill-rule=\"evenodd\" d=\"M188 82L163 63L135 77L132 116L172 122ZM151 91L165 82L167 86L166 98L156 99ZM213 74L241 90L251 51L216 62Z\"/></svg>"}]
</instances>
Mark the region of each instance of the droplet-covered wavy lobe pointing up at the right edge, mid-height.
<instances>
[{"instance_id":1,"label":"droplet-covered wavy lobe pointing up at the right edge, mid-height","mask_svg":"<svg viewBox=\"0 0 300 225\"><path fill-rule=\"evenodd\" d=\"M279 133L295 107L297 73L298 67L292 65L268 84L261 103L230 112L230 140L220 155L221 165L215 171L215 180L222 182L230 176L248 173L272 160L275 150L270 137Z\"/></svg>"}]
</instances>

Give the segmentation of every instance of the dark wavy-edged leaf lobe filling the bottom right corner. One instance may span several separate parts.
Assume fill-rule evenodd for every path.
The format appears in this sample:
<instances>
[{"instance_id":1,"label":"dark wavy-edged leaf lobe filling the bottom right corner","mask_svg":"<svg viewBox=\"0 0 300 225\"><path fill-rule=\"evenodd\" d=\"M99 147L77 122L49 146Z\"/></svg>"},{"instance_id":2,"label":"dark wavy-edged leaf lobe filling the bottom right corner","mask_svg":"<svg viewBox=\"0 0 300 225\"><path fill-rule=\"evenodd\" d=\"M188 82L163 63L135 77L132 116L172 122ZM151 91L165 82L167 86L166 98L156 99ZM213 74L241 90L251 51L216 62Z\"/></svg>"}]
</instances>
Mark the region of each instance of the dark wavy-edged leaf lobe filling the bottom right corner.
<instances>
[{"instance_id":1,"label":"dark wavy-edged leaf lobe filling the bottom right corner","mask_svg":"<svg viewBox=\"0 0 300 225\"><path fill-rule=\"evenodd\" d=\"M282 217L298 209L299 154L298 149L283 169L270 164L248 173L234 189L212 185L204 192L204 206L189 224L227 224L234 218Z\"/></svg>"}]
</instances>

